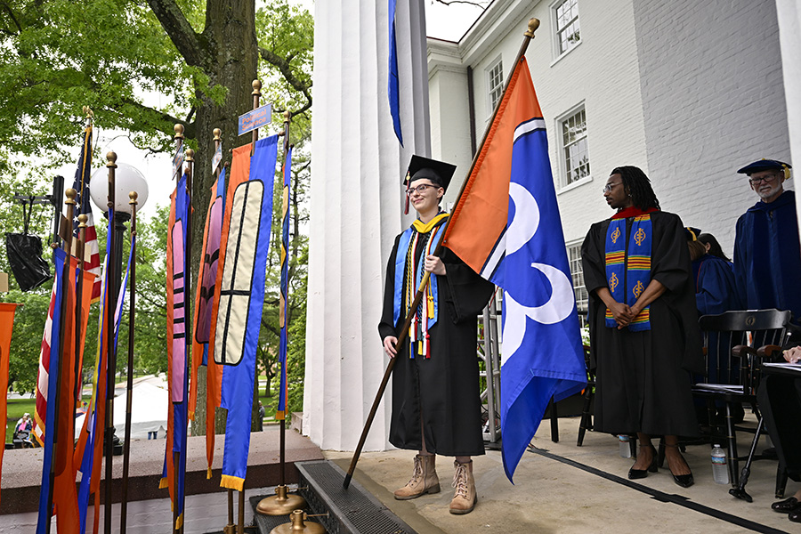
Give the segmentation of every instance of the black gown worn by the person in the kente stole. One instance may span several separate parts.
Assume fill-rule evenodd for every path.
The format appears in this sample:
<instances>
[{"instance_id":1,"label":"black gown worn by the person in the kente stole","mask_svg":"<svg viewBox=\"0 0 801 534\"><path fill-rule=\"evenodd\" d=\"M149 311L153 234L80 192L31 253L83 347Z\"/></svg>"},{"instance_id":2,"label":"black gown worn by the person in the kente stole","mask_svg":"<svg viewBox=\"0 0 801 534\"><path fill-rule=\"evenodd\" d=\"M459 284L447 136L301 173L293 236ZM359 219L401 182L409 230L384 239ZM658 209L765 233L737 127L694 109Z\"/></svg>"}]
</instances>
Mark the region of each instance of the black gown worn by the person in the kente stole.
<instances>
[{"instance_id":1,"label":"black gown worn by the person in the kente stole","mask_svg":"<svg viewBox=\"0 0 801 534\"><path fill-rule=\"evenodd\" d=\"M651 279L667 291L651 303L651 330L630 332L605 326L606 305L595 295L608 287L604 258L610 221L593 224L581 248L597 378L595 429L697 435L687 371L701 373L703 356L684 225L676 214L651 213ZM626 243L632 221L627 219Z\"/></svg>"}]
</instances>

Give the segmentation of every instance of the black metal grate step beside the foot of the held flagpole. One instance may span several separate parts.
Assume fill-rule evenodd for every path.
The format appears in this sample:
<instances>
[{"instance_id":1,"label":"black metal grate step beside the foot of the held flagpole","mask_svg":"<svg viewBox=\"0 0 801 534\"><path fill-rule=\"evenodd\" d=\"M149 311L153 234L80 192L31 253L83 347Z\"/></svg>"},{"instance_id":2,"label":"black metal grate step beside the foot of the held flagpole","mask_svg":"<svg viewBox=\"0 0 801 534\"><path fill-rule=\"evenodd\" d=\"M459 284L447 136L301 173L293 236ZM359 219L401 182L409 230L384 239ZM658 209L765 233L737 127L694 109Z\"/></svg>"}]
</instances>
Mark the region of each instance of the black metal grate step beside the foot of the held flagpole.
<instances>
[{"instance_id":1,"label":"black metal grate step beside the foot of the held flagpole","mask_svg":"<svg viewBox=\"0 0 801 534\"><path fill-rule=\"evenodd\" d=\"M389 508L370 495L359 482L351 481L345 490L342 486L345 473L328 460L298 462L298 486L303 498L312 507L328 534L416 534Z\"/></svg>"}]
</instances>

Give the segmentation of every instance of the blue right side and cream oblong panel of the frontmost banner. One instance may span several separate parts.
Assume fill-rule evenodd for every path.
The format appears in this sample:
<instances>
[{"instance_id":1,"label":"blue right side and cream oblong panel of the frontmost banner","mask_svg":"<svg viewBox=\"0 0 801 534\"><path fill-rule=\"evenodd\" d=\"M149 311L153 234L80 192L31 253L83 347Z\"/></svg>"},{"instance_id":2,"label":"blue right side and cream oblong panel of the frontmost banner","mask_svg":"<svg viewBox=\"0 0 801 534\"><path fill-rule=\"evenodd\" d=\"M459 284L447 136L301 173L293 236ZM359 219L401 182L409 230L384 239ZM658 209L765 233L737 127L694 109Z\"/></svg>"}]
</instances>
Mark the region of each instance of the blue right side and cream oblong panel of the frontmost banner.
<instances>
[{"instance_id":1,"label":"blue right side and cream oblong panel of the frontmost banner","mask_svg":"<svg viewBox=\"0 0 801 534\"><path fill-rule=\"evenodd\" d=\"M250 449L255 355L262 325L278 140L278 135L272 135L255 142L248 180L233 191L231 225L220 266L223 275L214 360L223 365L221 407L228 410L220 485L239 491L244 487Z\"/></svg>"}]
</instances>

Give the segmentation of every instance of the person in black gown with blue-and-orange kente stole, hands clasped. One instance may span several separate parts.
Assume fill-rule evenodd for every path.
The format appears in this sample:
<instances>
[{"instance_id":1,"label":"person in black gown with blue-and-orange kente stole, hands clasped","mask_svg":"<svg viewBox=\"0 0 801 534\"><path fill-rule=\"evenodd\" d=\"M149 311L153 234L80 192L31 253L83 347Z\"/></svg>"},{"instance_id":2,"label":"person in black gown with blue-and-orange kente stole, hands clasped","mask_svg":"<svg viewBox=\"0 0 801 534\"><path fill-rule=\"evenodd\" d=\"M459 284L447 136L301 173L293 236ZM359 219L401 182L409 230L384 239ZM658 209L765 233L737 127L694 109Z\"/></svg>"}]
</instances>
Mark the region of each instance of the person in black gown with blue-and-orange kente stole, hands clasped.
<instances>
[{"instance_id":1,"label":"person in black gown with blue-and-orange kente stole, hands clasped","mask_svg":"<svg viewBox=\"0 0 801 534\"><path fill-rule=\"evenodd\" d=\"M628 478L658 470L652 435L665 437L680 486L692 472L678 435L698 433L688 371L700 373L698 312L684 225L659 211L651 182L635 166L614 169L603 196L617 213L595 223L581 256L596 370L595 428L637 433L640 452Z\"/></svg>"}]
</instances>

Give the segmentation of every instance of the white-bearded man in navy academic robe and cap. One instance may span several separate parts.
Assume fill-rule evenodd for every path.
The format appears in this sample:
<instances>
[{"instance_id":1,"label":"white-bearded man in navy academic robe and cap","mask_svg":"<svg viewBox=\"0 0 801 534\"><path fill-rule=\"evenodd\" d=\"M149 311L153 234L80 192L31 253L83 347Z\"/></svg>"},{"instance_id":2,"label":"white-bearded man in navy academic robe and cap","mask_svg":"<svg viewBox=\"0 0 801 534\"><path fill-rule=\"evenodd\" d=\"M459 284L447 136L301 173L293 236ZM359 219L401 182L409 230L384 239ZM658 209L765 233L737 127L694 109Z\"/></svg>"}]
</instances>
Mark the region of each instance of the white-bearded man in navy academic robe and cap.
<instances>
[{"instance_id":1,"label":"white-bearded man in navy academic robe and cap","mask_svg":"<svg viewBox=\"0 0 801 534\"><path fill-rule=\"evenodd\" d=\"M762 159L742 167L759 202L737 221L734 279L740 302L748 310L777 308L801 320L801 246L796 196L784 190L791 167Z\"/></svg>"}]
</instances>

